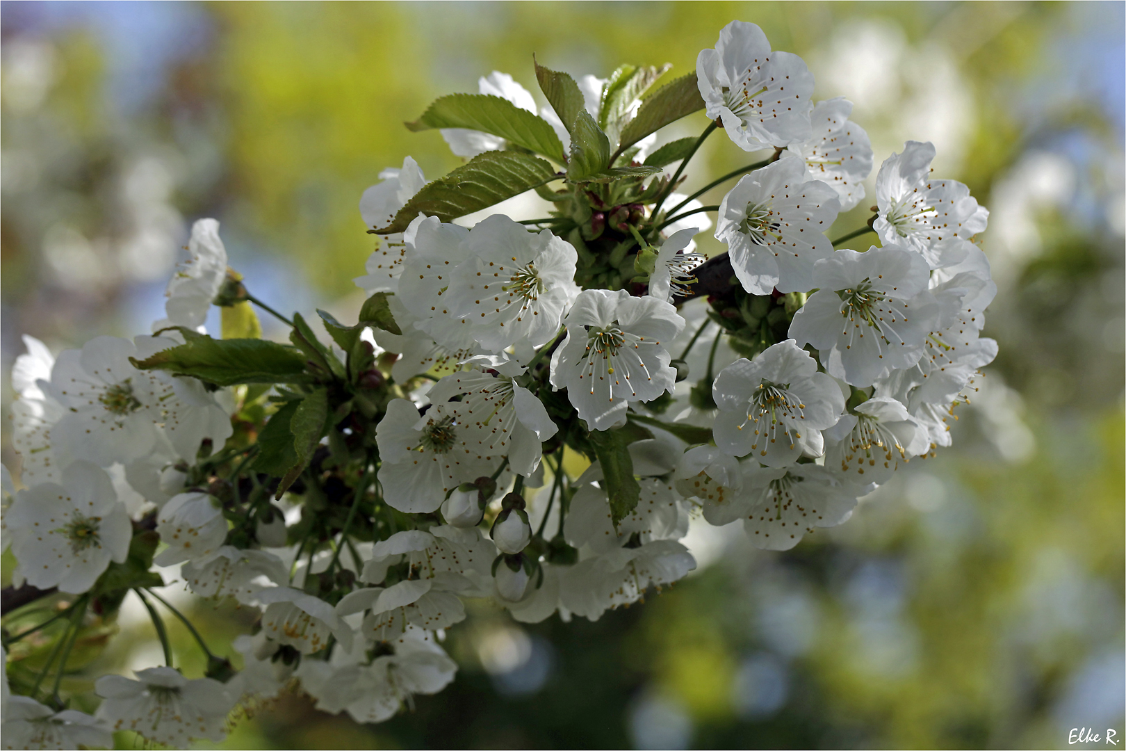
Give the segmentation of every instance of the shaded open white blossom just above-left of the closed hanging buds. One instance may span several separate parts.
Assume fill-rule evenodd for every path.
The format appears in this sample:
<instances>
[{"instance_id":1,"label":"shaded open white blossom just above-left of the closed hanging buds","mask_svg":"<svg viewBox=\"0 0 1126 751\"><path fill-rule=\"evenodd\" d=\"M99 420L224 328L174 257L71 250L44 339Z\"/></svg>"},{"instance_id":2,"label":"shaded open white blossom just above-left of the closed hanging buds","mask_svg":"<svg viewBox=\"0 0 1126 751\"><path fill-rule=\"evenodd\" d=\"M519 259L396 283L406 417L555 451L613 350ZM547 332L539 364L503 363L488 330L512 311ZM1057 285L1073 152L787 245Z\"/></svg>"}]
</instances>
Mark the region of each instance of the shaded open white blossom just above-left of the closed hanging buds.
<instances>
[{"instance_id":1,"label":"shaded open white blossom just above-left of the closed hanging buds","mask_svg":"<svg viewBox=\"0 0 1126 751\"><path fill-rule=\"evenodd\" d=\"M489 476L500 455L480 453L476 415L456 402L434 404L423 417L412 402L395 399L376 428L384 499L404 513L430 513L463 482Z\"/></svg>"}]
</instances>

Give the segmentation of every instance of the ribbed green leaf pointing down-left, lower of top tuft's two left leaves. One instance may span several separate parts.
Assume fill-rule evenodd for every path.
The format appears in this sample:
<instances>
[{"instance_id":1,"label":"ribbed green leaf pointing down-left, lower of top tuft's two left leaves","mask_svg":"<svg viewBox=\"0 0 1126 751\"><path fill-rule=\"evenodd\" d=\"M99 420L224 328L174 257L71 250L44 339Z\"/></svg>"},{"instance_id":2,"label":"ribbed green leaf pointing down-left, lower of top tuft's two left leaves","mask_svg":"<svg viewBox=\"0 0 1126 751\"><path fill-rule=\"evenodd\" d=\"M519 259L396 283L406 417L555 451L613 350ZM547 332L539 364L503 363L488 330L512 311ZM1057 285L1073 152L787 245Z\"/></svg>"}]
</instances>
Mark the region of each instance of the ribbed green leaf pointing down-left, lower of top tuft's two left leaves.
<instances>
[{"instance_id":1,"label":"ribbed green leaf pointing down-left, lower of top tuft's two left leaves","mask_svg":"<svg viewBox=\"0 0 1126 751\"><path fill-rule=\"evenodd\" d=\"M378 234L402 232L421 212L449 222L556 179L544 160L518 151L486 151L422 187Z\"/></svg>"}]
</instances>

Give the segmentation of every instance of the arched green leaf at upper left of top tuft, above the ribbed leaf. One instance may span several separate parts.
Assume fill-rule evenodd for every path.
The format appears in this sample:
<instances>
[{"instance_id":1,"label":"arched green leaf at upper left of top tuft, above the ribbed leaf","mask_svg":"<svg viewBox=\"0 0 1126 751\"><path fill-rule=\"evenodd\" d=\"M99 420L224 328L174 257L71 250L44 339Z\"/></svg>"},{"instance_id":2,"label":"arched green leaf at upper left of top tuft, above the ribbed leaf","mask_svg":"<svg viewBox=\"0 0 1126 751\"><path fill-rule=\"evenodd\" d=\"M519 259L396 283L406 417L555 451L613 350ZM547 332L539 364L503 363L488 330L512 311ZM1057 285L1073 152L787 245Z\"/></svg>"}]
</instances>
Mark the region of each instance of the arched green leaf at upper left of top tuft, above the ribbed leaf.
<instances>
[{"instance_id":1,"label":"arched green leaf at upper left of top tuft, above the ribbed leaf","mask_svg":"<svg viewBox=\"0 0 1126 751\"><path fill-rule=\"evenodd\" d=\"M563 161L563 143L543 118L491 93L452 93L440 97L422 113L411 131L464 127L499 135L555 161Z\"/></svg>"}]
</instances>

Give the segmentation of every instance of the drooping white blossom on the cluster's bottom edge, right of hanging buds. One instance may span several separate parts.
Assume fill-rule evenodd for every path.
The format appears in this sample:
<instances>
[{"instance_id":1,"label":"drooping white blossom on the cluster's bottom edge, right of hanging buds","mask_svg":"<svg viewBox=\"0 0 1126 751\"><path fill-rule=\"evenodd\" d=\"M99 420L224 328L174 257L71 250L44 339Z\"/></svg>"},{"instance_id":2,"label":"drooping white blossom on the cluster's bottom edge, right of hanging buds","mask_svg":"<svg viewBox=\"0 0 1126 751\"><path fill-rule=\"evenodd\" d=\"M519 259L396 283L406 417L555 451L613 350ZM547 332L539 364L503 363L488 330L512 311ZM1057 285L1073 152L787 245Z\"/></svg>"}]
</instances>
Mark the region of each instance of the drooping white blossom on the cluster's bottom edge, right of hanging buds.
<instances>
[{"instance_id":1,"label":"drooping white blossom on the cluster's bottom edge, right of hanging buds","mask_svg":"<svg viewBox=\"0 0 1126 751\"><path fill-rule=\"evenodd\" d=\"M650 587L660 589L695 567L688 549L671 539L615 548L561 573L560 605L574 615L598 620L611 608L636 602Z\"/></svg>"}]
</instances>

